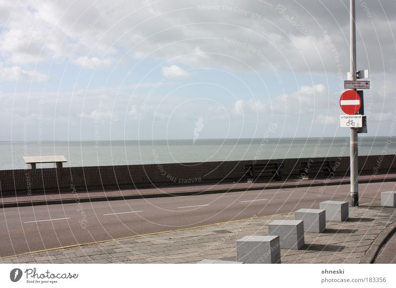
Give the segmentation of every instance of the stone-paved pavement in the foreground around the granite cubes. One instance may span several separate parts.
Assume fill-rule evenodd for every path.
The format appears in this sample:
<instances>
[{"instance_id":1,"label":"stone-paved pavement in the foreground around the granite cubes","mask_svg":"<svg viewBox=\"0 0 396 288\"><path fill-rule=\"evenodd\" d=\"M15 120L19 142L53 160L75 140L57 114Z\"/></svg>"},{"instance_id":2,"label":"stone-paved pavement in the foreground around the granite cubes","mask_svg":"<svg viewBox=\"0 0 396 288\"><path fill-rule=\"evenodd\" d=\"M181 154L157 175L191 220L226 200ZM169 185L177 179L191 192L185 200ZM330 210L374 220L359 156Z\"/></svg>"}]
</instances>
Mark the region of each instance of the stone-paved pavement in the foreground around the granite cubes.
<instances>
[{"instance_id":1,"label":"stone-paved pavement in the foreground around the granite cubes","mask_svg":"<svg viewBox=\"0 0 396 288\"><path fill-rule=\"evenodd\" d=\"M0 263L197 263L207 259L236 261L236 240L267 235L276 219L294 213L210 225L150 236L0 258ZM327 222L323 233L305 233L300 250L281 249L282 263L359 263L371 243L396 221L395 208L349 207L345 222ZM395 251L396 252L396 251Z\"/></svg>"}]
</instances>

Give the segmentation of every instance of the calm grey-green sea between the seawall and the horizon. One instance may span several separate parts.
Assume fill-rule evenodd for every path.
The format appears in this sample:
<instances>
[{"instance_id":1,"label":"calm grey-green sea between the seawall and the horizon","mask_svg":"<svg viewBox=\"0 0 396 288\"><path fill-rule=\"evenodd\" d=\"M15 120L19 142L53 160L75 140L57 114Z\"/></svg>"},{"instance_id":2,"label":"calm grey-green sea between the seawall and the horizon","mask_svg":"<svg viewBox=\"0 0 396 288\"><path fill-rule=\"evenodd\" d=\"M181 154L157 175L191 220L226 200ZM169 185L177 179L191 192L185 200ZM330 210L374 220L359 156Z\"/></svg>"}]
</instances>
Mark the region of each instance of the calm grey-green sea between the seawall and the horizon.
<instances>
[{"instance_id":1,"label":"calm grey-green sea between the seawall and the horizon","mask_svg":"<svg viewBox=\"0 0 396 288\"><path fill-rule=\"evenodd\" d=\"M0 142L0 169L23 169L22 156L64 155L64 166L125 165L348 156L349 138L269 138L93 142ZM360 137L359 155L396 154L386 137ZM46 164L44 167L52 167Z\"/></svg>"}]
</instances>

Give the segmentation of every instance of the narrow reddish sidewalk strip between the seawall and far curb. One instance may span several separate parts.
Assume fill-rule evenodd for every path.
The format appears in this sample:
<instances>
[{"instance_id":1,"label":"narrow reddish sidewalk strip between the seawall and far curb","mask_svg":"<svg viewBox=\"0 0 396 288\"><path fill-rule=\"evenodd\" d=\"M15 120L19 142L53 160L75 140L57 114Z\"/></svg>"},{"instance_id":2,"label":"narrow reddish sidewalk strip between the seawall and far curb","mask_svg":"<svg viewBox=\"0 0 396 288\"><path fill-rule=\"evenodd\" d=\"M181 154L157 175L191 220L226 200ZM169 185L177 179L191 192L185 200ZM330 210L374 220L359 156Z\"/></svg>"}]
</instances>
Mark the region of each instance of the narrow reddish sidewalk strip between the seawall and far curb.
<instances>
[{"instance_id":1,"label":"narrow reddish sidewalk strip between the seawall and far curb","mask_svg":"<svg viewBox=\"0 0 396 288\"><path fill-rule=\"evenodd\" d=\"M359 176L359 183L373 183L395 181L396 174L383 175L362 175ZM262 190L262 189L280 189L280 188L296 188L296 187L312 187L312 186L330 186L348 184L349 177L336 177L333 179L314 179L314 180L286 180L270 183L225 183L225 184L201 184L188 186L163 186L157 188L145 189L106 189L97 191L80 191L78 189L70 188L70 191L62 192L33 192L31 195L27 193L4 194L0 197L0 208L15 207L15 206L31 206L31 205L46 205L59 203L75 203L76 195L80 202L89 201L106 201L106 200L121 200L134 199L142 197L161 197L172 195L191 195L203 193L224 193L235 191L248 190Z\"/></svg>"}]
</instances>

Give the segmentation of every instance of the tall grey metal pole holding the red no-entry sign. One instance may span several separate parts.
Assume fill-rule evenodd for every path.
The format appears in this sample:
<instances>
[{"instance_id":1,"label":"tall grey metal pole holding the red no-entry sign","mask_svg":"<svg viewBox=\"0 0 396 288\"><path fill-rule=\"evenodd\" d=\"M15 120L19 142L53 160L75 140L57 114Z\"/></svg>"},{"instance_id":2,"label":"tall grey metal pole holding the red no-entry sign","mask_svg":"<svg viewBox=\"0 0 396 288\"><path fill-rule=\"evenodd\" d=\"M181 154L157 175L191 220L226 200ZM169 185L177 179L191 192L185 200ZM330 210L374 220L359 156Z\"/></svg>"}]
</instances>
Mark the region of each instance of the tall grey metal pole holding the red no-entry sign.
<instances>
[{"instance_id":1,"label":"tall grey metal pole holding the red no-entry sign","mask_svg":"<svg viewBox=\"0 0 396 288\"><path fill-rule=\"evenodd\" d=\"M350 0L350 80L356 81L355 0ZM356 89L354 89L356 92ZM359 206L357 128L350 128L350 206Z\"/></svg>"}]
</instances>

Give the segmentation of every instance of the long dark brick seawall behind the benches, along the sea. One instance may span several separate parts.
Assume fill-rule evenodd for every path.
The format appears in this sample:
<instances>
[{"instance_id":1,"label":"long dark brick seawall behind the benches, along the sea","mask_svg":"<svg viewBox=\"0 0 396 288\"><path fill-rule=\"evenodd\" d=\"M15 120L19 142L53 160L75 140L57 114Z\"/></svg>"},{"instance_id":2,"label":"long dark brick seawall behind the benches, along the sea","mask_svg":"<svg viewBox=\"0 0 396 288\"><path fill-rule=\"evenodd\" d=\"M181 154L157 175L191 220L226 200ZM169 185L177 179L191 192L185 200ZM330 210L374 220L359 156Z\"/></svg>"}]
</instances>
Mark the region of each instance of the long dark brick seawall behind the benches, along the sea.
<instances>
[{"instance_id":1,"label":"long dark brick seawall behind the benches, along the sea","mask_svg":"<svg viewBox=\"0 0 396 288\"><path fill-rule=\"evenodd\" d=\"M359 156L361 175L386 174L396 172L396 155ZM284 179L297 179L300 162L312 158L258 160L257 163L283 162ZM334 160L335 177L349 173L349 157L317 157L318 160ZM35 191L70 191L71 187L80 191L107 188L152 187L158 185L189 185L210 182L232 182L245 179L244 161L192 162L145 165L65 167L43 169L0 170L1 193ZM270 181L271 175L262 178Z\"/></svg>"}]
</instances>

